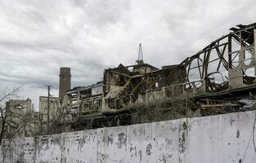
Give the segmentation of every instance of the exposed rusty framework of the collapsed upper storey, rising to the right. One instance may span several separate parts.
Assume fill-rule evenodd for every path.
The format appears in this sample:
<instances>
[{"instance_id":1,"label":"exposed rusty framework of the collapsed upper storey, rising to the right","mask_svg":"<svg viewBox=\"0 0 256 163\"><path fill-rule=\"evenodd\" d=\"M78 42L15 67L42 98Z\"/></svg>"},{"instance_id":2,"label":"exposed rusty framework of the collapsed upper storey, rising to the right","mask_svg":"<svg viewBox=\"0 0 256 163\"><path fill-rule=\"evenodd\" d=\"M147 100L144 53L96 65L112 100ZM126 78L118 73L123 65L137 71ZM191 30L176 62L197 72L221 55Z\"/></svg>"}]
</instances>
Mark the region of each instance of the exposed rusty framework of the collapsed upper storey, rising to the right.
<instances>
[{"instance_id":1,"label":"exposed rusty framework of the collapsed upper storey, rising to the right","mask_svg":"<svg viewBox=\"0 0 256 163\"><path fill-rule=\"evenodd\" d=\"M256 24L237 25L231 28L231 33L210 42L182 63L162 69L144 63L108 68L101 93L91 95L90 86L70 90L67 108L78 108L79 116L90 117L170 99L253 91L256 88L255 29Z\"/></svg>"}]
</instances>

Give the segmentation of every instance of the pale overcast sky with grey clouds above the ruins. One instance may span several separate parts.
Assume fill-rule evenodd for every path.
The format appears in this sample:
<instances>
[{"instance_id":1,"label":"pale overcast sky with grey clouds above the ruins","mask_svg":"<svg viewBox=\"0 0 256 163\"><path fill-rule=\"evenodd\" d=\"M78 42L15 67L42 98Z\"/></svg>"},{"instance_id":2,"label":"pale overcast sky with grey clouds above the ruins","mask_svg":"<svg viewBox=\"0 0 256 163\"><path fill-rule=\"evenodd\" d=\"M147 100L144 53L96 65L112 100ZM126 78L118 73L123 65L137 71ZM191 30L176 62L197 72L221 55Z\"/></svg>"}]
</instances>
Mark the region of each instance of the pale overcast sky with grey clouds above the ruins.
<instances>
[{"instance_id":1,"label":"pale overcast sky with grey clouds above the ruins","mask_svg":"<svg viewBox=\"0 0 256 163\"><path fill-rule=\"evenodd\" d=\"M178 64L236 24L254 23L253 0L0 0L1 86L23 86L38 107L45 85L58 95L59 68L72 86L102 79L104 68Z\"/></svg>"}]
</instances>

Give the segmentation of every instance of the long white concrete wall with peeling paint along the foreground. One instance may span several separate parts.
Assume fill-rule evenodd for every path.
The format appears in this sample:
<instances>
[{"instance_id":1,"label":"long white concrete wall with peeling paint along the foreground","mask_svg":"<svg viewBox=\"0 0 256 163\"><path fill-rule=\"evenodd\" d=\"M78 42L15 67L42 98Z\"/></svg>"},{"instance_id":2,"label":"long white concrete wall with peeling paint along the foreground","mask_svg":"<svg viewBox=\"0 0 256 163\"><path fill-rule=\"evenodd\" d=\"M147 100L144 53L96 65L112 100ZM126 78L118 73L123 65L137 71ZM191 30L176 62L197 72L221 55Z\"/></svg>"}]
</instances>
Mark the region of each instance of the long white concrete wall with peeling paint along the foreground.
<instances>
[{"instance_id":1,"label":"long white concrete wall with peeling paint along the foreground","mask_svg":"<svg viewBox=\"0 0 256 163\"><path fill-rule=\"evenodd\" d=\"M5 140L0 162L254 163L255 115L237 112Z\"/></svg>"}]
</instances>

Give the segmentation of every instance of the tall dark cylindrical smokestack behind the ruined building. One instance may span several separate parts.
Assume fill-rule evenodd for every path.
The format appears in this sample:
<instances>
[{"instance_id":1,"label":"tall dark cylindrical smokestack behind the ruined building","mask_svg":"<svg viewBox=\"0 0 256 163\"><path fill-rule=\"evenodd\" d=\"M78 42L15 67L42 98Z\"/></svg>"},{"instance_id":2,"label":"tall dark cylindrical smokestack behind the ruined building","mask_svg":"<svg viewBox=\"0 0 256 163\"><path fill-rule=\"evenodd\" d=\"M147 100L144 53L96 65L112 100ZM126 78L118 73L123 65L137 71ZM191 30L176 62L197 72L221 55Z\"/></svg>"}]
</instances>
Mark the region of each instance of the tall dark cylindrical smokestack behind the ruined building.
<instances>
[{"instance_id":1,"label":"tall dark cylindrical smokestack behind the ruined building","mask_svg":"<svg viewBox=\"0 0 256 163\"><path fill-rule=\"evenodd\" d=\"M71 74L70 68L60 68L59 98L63 99L65 92L70 90Z\"/></svg>"}]
</instances>

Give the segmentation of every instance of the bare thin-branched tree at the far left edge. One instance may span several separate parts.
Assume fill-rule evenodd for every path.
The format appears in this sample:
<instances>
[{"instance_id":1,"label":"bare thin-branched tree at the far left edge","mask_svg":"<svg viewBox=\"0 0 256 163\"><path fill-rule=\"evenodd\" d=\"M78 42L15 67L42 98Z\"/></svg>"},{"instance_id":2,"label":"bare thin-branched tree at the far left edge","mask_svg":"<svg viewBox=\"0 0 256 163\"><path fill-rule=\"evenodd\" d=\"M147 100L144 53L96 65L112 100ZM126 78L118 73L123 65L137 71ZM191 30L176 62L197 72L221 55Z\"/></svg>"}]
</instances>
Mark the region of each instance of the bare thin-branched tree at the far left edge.
<instances>
[{"instance_id":1,"label":"bare thin-branched tree at the far left edge","mask_svg":"<svg viewBox=\"0 0 256 163\"><path fill-rule=\"evenodd\" d=\"M9 117L6 102L9 99L13 99L13 98L17 97L19 92L20 92L20 86L14 86L11 89L6 87L6 88L0 90L0 114L1 114L0 145L2 143L2 138L3 138L4 132L6 131L6 126L7 126L8 117Z\"/></svg>"}]
</instances>

